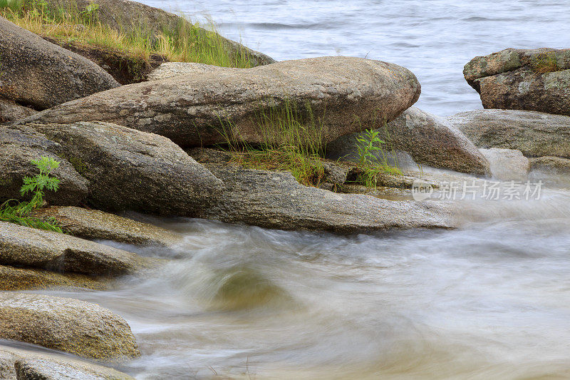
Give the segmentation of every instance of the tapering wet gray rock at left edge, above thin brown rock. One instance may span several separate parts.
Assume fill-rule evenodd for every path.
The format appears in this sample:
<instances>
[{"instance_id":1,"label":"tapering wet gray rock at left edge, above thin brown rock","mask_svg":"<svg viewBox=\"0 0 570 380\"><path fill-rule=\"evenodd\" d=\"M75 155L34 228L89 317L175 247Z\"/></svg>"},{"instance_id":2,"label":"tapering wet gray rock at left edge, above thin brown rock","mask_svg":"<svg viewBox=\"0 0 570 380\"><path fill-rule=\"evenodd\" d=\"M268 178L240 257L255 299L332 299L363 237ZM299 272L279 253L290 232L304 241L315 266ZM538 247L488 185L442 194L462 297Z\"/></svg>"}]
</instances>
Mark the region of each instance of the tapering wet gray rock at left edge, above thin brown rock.
<instances>
[{"instance_id":1,"label":"tapering wet gray rock at left edge, above thin brown rock","mask_svg":"<svg viewBox=\"0 0 570 380\"><path fill-rule=\"evenodd\" d=\"M58 232L0 222L0 265L117 276L152 265L138 255Z\"/></svg>"}]
</instances>

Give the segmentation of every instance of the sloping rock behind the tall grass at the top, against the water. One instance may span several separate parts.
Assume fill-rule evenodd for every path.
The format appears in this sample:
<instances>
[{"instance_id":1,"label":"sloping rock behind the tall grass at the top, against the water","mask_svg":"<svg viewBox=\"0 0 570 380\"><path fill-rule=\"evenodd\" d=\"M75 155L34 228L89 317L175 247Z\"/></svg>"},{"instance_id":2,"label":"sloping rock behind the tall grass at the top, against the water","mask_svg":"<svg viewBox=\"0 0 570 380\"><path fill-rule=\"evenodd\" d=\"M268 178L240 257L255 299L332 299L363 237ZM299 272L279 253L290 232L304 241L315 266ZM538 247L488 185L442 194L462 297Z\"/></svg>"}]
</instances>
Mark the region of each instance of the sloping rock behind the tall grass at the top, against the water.
<instances>
[{"instance_id":1,"label":"sloping rock behind the tall grass at the top, against the water","mask_svg":"<svg viewBox=\"0 0 570 380\"><path fill-rule=\"evenodd\" d=\"M51 9L76 7L78 11L83 11L91 1L47 0L46 3ZM229 61L235 60L237 56L242 56L249 58L254 66L275 62L273 58L266 56L264 53L254 51L241 43L219 36L217 33L197 28L186 19L162 9L129 0L98 0L97 4L99 5L97 10L98 21L127 34L140 34L141 31L147 31L151 34L148 36L150 38L164 32L175 35L182 26L184 29L192 28L198 36L209 36L221 42L228 53Z\"/></svg>"}]
</instances>

